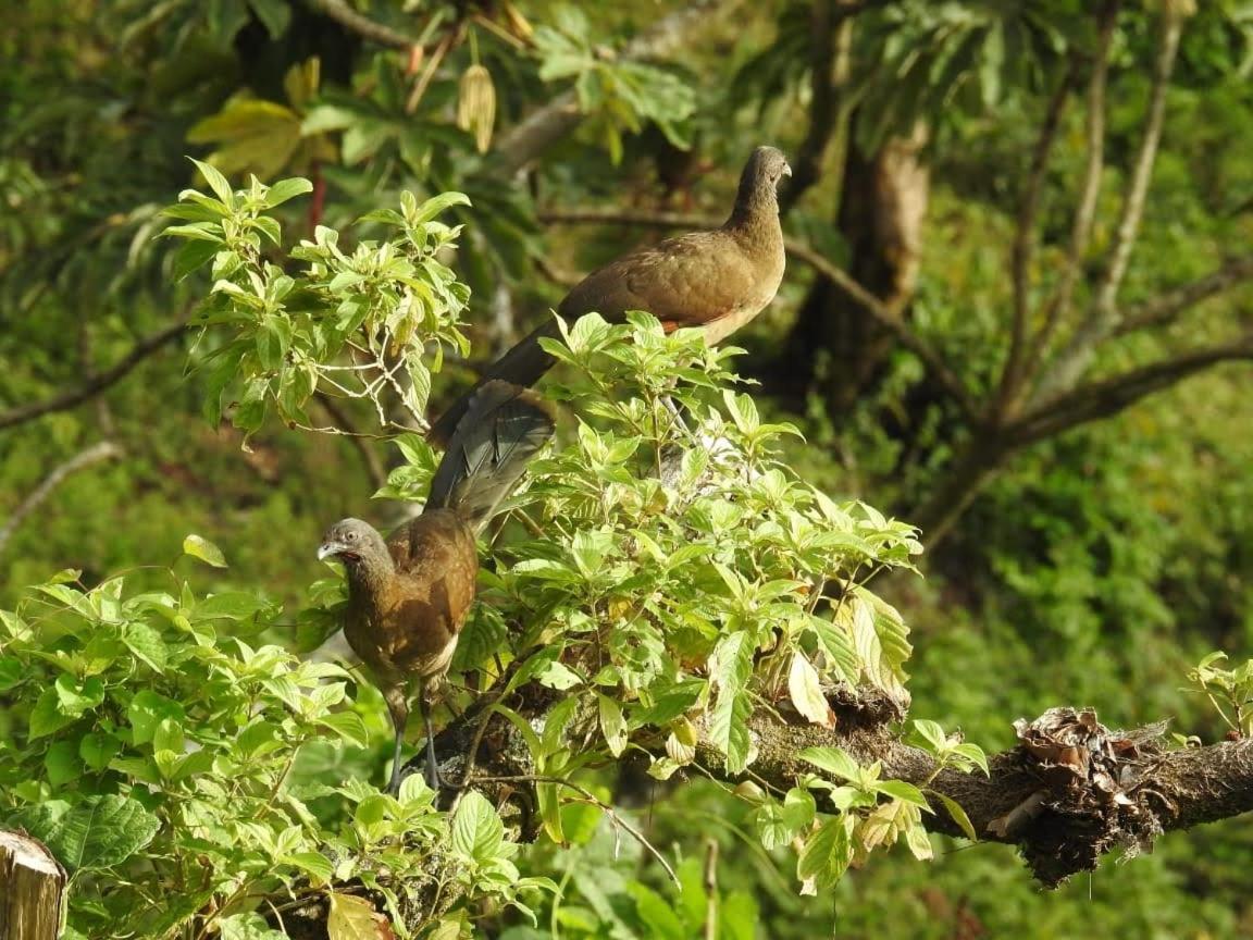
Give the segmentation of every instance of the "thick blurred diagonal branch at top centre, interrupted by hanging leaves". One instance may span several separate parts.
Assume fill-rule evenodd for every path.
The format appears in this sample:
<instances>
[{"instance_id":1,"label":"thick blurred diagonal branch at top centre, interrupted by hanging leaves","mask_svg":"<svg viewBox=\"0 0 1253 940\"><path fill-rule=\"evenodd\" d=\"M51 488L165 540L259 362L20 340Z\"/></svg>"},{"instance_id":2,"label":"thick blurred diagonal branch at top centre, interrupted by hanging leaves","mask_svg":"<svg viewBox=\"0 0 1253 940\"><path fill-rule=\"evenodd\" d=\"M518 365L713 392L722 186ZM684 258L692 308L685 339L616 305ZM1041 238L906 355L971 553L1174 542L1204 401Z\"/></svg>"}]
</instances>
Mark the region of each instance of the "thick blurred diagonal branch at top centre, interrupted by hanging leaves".
<instances>
[{"instance_id":1,"label":"thick blurred diagonal branch at top centre, interrupted by hanging leaves","mask_svg":"<svg viewBox=\"0 0 1253 940\"><path fill-rule=\"evenodd\" d=\"M658 20L652 29L642 33L623 49L628 59L647 59L668 55L682 48L693 33L720 8L729 8L736 0L694 0L682 10ZM491 169L497 177L512 177L536 159L544 150L573 132L583 122L579 99L573 90L563 91L553 100L531 112L526 118L506 130L496 142Z\"/></svg>"}]
</instances>

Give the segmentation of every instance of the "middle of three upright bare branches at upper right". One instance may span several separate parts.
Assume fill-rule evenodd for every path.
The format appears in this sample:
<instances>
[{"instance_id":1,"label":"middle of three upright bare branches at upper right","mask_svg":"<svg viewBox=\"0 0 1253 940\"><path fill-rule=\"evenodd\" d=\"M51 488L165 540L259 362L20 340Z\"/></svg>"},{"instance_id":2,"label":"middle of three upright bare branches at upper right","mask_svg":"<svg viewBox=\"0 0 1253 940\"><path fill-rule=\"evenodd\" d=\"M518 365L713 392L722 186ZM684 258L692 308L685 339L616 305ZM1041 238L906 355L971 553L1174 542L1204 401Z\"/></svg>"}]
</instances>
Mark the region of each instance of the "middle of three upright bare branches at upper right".
<instances>
[{"instance_id":1,"label":"middle of three upright bare branches at upper right","mask_svg":"<svg viewBox=\"0 0 1253 940\"><path fill-rule=\"evenodd\" d=\"M1105 0L1099 16L1096 53L1093 60L1093 74L1088 80L1088 167L1084 170L1083 194L1075 209L1075 221L1070 229L1070 248L1061 268L1061 279L1049 300L1044 313L1044 325L1031 341L1029 361L1036 361L1049 347L1058 323L1070 312L1075 283L1083 269L1084 253L1091 238L1093 218L1096 214L1096 197L1100 196L1100 177L1105 169L1105 85L1109 78L1109 49L1114 40L1114 26L1118 23L1120 0Z\"/></svg>"}]
</instances>

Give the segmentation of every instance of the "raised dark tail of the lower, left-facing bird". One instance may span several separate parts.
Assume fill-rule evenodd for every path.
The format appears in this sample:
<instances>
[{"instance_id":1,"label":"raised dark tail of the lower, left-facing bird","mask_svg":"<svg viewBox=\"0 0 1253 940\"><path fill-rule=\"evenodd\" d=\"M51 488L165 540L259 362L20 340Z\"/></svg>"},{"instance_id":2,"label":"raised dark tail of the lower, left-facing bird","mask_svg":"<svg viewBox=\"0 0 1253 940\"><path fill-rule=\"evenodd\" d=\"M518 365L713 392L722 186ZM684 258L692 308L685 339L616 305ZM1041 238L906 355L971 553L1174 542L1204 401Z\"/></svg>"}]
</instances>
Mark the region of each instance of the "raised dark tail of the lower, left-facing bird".
<instances>
[{"instance_id":1,"label":"raised dark tail of the lower, left-facing bird","mask_svg":"<svg viewBox=\"0 0 1253 940\"><path fill-rule=\"evenodd\" d=\"M477 530L553 436L554 425L539 395L499 379L482 382L466 399L426 505L454 509Z\"/></svg>"}]
</instances>

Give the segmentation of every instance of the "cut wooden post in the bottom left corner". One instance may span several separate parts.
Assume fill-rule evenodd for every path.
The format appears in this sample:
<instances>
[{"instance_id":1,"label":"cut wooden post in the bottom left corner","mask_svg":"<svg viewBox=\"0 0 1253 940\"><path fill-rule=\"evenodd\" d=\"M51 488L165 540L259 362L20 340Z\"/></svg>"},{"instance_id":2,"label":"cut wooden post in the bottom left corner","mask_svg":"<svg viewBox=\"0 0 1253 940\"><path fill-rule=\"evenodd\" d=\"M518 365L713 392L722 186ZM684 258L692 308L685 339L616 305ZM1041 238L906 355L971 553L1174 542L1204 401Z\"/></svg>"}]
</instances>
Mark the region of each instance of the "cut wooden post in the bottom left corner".
<instances>
[{"instance_id":1,"label":"cut wooden post in the bottom left corner","mask_svg":"<svg viewBox=\"0 0 1253 940\"><path fill-rule=\"evenodd\" d=\"M0 940L56 940L65 881L43 842L0 831Z\"/></svg>"}]
</instances>

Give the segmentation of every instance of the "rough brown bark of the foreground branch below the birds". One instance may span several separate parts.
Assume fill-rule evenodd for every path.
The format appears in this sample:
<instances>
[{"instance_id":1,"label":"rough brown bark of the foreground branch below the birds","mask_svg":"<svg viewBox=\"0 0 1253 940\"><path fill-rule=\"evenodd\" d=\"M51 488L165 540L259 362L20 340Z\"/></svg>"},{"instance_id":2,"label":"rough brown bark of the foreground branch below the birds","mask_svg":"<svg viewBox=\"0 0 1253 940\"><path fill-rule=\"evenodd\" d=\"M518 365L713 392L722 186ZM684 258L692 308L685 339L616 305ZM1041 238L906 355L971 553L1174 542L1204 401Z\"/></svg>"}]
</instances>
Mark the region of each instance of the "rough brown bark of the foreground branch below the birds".
<instances>
[{"instance_id":1,"label":"rough brown bark of the foreground branch below the birds","mask_svg":"<svg viewBox=\"0 0 1253 940\"><path fill-rule=\"evenodd\" d=\"M536 722L560 696L536 684L521 687L510 708ZM782 796L814 767L798 755L807 747L840 747L858 763L882 763L885 778L903 780L956 801L981 840L1016 845L1034 877L1055 886L1080 871L1095 869L1115 850L1150 849L1164 832L1215 822L1253 810L1253 742L1235 741L1168 751L1164 724L1118 732L1105 728L1091 711L1050 709L1034 722L1015 722L1021 744L994 755L989 776L938 770L935 758L900 739L902 708L877 689L838 688L827 694L836 712L834 729L802 717L758 709L748 719L757 756L743 773L732 773L698 722L694 770L727 785L753 781ZM594 706L588 724L595 727ZM512 798L534 806L534 795L519 800L517 787L535 781L526 748L504 717L486 718L472 707L439 734L437 752L449 755L441 772L461 780L470 751L475 752L471 786L491 798ZM580 719L574 726L581 727ZM637 734L633 742L660 757L662 736ZM422 756L407 772L421 772ZM499 781L510 785L500 788ZM925 815L928 830L951 836L962 831L944 806ZM524 823L521 838L534 838L538 820Z\"/></svg>"}]
</instances>

